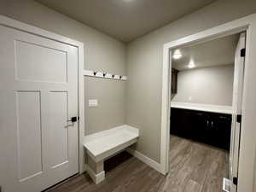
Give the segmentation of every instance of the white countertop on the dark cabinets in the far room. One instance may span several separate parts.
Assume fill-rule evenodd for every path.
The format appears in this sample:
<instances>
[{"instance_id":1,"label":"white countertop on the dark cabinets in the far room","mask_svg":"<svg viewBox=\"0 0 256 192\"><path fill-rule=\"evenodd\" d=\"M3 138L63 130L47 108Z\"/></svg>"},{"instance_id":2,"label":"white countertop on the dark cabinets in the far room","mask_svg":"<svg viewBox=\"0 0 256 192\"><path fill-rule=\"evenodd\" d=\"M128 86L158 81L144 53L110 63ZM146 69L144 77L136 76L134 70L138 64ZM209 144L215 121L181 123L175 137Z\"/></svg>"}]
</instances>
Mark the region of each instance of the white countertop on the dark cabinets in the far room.
<instances>
[{"instance_id":1,"label":"white countertop on the dark cabinets in the far room","mask_svg":"<svg viewBox=\"0 0 256 192\"><path fill-rule=\"evenodd\" d=\"M189 103L189 102L171 102L171 108L184 108L184 109L190 109L190 110L196 110L196 111L232 114L232 106L225 106L225 105L209 105L209 104Z\"/></svg>"}]
</instances>

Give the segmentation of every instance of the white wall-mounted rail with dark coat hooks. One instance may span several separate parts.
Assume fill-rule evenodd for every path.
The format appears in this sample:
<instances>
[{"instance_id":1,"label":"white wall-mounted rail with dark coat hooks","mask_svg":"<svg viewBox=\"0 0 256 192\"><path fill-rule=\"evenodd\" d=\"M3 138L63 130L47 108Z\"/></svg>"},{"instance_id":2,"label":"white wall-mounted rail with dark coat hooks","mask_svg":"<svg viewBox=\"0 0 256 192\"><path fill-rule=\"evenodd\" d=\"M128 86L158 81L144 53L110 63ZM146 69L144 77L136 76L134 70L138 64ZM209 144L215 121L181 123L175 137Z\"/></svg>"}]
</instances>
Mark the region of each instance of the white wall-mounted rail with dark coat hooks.
<instances>
[{"instance_id":1,"label":"white wall-mounted rail with dark coat hooks","mask_svg":"<svg viewBox=\"0 0 256 192\"><path fill-rule=\"evenodd\" d=\"M127 76L125 75L117 75L117 74L90 71L90 70L84 70L84 76L103 78L103 79L123 80L123 81L127 80Z\"/></svg>"}]
</instances>

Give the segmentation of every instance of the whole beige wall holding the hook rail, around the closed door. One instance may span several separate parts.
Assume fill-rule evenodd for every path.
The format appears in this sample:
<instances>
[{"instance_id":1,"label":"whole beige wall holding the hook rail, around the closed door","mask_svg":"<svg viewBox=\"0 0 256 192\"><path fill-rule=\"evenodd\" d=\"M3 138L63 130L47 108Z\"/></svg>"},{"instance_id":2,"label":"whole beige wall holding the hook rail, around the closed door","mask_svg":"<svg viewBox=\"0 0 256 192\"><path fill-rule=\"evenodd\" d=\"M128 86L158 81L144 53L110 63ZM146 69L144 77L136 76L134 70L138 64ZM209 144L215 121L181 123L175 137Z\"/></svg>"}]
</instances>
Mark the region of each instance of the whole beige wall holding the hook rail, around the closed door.
<instances>
[{"instance_id":1,"label":"whole beige wall holding the hook rail, around the closed door","mask_svg":"<svg viewBox=\"0 0 256 192\"><path fill-rule=\"evenodd\" d=\"M85 69L125 75L125 44L102 32L32 0L1 0L0 14L83 42ZM124 82L85 78L85 98L100 103L97 108L85 108L86 133L125 123Z\"/></svg>"}]
</instances>

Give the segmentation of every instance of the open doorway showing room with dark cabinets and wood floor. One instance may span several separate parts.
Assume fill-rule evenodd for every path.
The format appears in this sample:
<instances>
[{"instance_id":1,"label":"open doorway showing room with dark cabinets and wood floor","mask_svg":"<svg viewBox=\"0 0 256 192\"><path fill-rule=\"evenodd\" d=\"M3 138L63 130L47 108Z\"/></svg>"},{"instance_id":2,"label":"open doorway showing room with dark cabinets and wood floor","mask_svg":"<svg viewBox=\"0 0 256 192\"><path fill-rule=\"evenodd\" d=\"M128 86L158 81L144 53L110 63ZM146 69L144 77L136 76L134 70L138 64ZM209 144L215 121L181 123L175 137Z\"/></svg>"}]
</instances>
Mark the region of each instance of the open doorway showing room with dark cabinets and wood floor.
<instances>
[{"instance_id":1,"label":"open doorway showing room with dark cabinets and wood floor","mask_svg":"<svg viewBox=\"0 0 256 192\"><path fill-rule=\"evenodd\" d=\"M245 42L246 32L239 32L176 46L168 53L168 172L170 178L173 172L173 177L184 177L183 188L236 191ZM223 185L224 177L230 183Z\"/></svg>"}]
</instances>

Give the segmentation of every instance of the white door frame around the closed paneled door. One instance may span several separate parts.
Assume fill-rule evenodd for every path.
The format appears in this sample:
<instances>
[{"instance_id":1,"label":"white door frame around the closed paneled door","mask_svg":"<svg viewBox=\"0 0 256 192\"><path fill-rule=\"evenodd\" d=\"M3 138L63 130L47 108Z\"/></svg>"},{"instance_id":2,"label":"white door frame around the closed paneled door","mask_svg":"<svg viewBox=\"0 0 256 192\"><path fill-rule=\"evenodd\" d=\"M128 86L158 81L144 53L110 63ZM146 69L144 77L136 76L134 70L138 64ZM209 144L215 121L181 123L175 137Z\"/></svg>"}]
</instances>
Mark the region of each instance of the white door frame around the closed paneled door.
<instances>
[{"instance_id":1,"label":"white door frame around the closed paneled door","mask_svg":"<svg viewBox=\"0 0 256 192\"><path fill-rule=\"evenodd\" d=\"M61 42L63 44L69 44L78 48L78 58L79 58L79 103L78 103L78 115L79 115L79 173L85 171L84 168L84 44L73 40L71 38L66 38L64 36L55 34L53 32L45 31L44 29L38 28L36 26L30 26L25 23L22 23L18 20L10 19L9 17L0 15L0 25L7 26L10 28L14 28L16 30L20 30L22 32L27 32L33 35L37 35L39 37L48 38L57 42Z\"/></svg>"}]
</instances>

